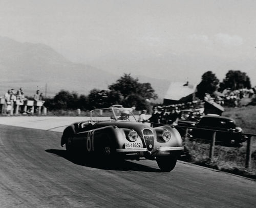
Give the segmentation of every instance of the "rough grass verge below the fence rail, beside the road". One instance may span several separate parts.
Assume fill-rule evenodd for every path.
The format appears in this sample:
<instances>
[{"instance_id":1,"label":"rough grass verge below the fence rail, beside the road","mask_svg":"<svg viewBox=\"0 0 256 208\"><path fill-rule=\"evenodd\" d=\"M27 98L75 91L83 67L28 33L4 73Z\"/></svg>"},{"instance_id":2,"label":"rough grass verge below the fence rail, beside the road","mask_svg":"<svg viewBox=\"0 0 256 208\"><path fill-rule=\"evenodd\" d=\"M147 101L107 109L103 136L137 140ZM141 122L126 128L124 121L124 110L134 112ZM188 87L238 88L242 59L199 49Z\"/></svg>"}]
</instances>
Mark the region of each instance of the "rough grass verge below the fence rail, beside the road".
<instances>
[{"instance_id":1,"label":"rough grass verge below the fence rail, beside the road","mask_svg":"<svg viewBox=\"0 0 256 208\"><path fill-rule=\"evenodd\" d=\"M182 161L256 179L256 151L252 152L251 167L245 168L246 142L242 147L216 145L212 160L209 159L209 144L186 138L183 145Z\"/></svg>"}]
</instances>

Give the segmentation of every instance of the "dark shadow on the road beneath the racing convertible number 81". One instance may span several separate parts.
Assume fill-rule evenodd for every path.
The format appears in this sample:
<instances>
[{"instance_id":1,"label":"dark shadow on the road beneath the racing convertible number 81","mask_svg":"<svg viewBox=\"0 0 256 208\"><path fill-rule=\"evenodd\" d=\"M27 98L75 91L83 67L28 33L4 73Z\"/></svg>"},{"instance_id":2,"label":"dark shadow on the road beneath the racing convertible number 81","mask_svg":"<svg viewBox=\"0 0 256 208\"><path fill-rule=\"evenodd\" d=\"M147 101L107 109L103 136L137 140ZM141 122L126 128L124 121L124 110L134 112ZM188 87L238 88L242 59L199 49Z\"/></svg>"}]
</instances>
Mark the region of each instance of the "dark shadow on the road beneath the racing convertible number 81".
<instances>
[{"instance_id":1,"label":"dark shadow on the road beneath the racing convertible number 81","mask_svg":"<svg viewBox=\"0 0 256 208\"><path fill-rule=\"evenodd\" d=\"M91 168L99 168L103 170L134 170L142 172L161 172L160 169L151 168L145 165L133 163L126 160L113 160L113 161L96 161L81 159L84 155L71 156L63 149L47 149L46 152L53 153L59 157L65 158L66 160L81 166L87 166Z\"/></svg>"}]
</instances>

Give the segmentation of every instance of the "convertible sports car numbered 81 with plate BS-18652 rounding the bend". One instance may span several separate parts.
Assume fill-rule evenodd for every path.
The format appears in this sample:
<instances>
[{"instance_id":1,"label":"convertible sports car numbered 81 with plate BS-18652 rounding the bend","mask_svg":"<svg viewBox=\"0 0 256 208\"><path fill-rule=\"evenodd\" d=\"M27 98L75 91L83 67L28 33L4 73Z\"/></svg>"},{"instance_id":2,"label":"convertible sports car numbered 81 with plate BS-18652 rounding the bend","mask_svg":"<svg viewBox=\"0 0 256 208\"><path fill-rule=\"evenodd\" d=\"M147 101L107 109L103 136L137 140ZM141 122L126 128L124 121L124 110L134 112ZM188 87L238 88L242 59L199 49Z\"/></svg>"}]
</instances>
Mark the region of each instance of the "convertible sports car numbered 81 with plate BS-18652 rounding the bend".
<instances>
[{"instance_id":1,"label":"convertible sports car numbered 81 with plate BS-18652 rounding the bend","mask_svg":"<svg viewBox=\"0 0 256 208\"><path fill-rule=\"evenodd\" d=\"M61 146L70 154L80 150L105 159L156 160L162 171L174 169L183 150L177 129L165 125L152 128L137 122L132 109L106 108L91 111L91 120L65 128Z\"/></svg>"}]
</instances>

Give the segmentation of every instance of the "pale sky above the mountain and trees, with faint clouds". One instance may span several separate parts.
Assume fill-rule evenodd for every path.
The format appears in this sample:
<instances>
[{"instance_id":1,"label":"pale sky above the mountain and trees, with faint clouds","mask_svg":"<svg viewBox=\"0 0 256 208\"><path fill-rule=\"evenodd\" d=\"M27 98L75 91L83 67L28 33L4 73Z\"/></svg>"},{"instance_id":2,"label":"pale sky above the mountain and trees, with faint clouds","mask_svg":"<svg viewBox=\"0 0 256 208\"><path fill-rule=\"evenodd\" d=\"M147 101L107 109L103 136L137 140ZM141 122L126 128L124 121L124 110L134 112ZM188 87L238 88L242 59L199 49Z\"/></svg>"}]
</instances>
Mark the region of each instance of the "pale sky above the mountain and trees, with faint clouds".
<instances>
[{"instance_id":1,"label":"pale sky above the mountain and trees, with faint clouds","mask_svg":"<svg viewBox=\"0 0 256 208\"><path fill-rule=\"evenodd\" d=\"M73 62L197 83L241 70L256 85L256 1L0 0L0 36Z\"/></svg>"}]
</instances>

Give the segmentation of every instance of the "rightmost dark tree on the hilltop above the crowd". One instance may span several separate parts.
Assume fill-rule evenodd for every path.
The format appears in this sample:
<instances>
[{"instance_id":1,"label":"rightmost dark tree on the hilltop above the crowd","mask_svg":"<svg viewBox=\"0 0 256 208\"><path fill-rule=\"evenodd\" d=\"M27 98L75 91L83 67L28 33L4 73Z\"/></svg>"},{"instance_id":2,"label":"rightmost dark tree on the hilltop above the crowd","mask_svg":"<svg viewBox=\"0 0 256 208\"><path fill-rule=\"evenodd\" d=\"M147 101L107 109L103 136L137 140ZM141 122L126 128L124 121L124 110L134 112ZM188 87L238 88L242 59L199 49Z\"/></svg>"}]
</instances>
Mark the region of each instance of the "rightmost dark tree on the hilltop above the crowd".
<instances>
[{"instance_id":1,"label":"rightmost dark tree on the hilltop above the crowd","mask_svg":"<svg viewBox=\"0 0 256 208\"><path fill-rule=\"evenodd\" d=\"M245 72L240 70L229 70L226 77L220 84L220 90L230 88L231 90L238 90L242 88L251 88L250 78Z\"/></svg>"}]
</instances>

